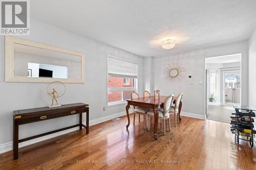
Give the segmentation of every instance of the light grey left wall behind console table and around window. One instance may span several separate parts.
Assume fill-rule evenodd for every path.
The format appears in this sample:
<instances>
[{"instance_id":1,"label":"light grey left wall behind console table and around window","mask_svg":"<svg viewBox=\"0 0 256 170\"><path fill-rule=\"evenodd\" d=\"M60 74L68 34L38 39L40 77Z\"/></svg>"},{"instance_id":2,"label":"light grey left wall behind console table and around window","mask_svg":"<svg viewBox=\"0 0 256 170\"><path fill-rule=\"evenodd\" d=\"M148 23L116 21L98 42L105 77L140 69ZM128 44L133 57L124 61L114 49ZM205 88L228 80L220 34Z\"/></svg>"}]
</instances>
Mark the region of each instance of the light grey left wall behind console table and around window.
<instances>
[{"instance_id":1,"label":"light grey left wall behind console table and around window","mask_svg":"<svg viewBox=\"0 0 256 170\"><path fill-rule=\"evenodd\" d=\"M138 91L143 91L143 58L110 45L90 40L31 19L30 36L20 36L29 40L47 43L85 54L84 84L66 84L66 94L58 99L60 104L83 102L90 105L90 120L114 113L123 112L125 105L106 106L106 57L111 55L123 60L138 63ZM12 141L13 110L45 107L50 105L47 95L48 83L13 83L5 82L5 39L0 36L0 148L1 144ZM85 121L85 119L84 119ZM46 120L20 126L19 138L48 132L75 125L78 115Z\"/></svg>"}]
</instances>

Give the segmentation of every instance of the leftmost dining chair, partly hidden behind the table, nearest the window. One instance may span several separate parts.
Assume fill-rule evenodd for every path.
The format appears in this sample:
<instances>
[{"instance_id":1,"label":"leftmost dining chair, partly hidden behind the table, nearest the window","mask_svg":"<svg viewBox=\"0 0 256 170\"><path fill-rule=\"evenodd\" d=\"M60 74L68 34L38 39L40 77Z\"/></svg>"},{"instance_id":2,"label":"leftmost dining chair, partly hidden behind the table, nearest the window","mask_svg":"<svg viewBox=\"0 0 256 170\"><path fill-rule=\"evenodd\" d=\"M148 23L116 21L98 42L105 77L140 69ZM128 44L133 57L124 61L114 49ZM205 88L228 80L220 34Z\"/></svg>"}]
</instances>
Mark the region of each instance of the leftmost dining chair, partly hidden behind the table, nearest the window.
<instances>
[{"instance_id":1,"label":"leftmost dining chair, partly hidden behind the table, nearest the window","mask_svg":"<svg viewBox=\"0 0 256 170\"><path fill-rule=\"evenodd\" d=\"M132 99L137 99L139 98L139 94L136 93L135 91L132 92L131 94L132 96ZM150 111L150 109L148 108L144 108L144 107L136 107L136 106L133 106L134 108L134 116L133 116L133 125L135 125L135 116L136 116L136 113L139 114L139 123L140 123L140 115L142 114L143 115L143 118L144 118L144 129L146 129L146 114L148 111Z\"/></svg>"}]
</instances>

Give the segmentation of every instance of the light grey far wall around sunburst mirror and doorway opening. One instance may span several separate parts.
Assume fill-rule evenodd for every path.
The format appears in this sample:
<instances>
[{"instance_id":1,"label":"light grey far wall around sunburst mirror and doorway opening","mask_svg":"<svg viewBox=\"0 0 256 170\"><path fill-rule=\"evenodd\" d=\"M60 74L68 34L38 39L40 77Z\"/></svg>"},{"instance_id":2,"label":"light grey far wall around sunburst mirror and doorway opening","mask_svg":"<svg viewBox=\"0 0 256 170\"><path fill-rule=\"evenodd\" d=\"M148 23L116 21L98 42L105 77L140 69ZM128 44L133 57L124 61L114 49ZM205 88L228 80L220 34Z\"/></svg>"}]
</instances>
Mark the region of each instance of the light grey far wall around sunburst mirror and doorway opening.
<instances>
[{"instance_id":1,"label":"light grey far wall around sunburst mirror and doorway opening","mask_svg":"<svg viewBox=\"0 0 256 170\"><path fill-rule=\"evenodd\" d=\"M242 104L248 104L248 41L223 44L190 51L179 55L154 58L154 88L167 95L184 92L182 111L205 114L205 58L242 54ZM164 80L164 67L171 62L180 62L187 70L187 76L179 84L169 84ZM192 78L189 79L188 75ZM193 85L189 81L193 80ZM203 84L199 85L199 81Z\"/></svg>"}]
</instances>

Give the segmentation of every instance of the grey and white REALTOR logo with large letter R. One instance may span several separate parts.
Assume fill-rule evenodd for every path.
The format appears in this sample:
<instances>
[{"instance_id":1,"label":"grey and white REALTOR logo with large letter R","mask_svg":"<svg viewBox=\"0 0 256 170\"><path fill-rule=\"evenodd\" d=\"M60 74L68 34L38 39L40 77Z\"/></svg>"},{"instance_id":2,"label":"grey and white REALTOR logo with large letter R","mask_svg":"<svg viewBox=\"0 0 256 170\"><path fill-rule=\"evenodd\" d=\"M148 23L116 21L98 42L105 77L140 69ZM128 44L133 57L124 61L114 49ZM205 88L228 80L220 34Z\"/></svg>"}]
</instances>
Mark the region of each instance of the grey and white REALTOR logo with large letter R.
<instances>
[{"instance_id":1,"label":"grey and white REALTOR logo with large letter R","mask_svg":"<svg viewBox=\"0 0 256 170\"><path fill-rule=\"evenodd\" d=\"M0 0L1 35L29 35L29 0Z\"/></svg>"}]
</instances>

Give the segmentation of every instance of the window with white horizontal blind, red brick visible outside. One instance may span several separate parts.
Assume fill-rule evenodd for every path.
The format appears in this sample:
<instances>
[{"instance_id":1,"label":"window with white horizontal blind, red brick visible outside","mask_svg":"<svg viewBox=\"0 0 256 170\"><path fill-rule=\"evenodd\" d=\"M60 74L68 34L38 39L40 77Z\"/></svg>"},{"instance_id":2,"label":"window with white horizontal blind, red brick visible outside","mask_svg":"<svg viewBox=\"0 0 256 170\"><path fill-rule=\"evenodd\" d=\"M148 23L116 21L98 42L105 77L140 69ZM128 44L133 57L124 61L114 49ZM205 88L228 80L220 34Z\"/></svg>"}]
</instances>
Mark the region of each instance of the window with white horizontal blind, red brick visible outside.
<instances>
[{"instance_id":1,"label":"window with white horizontal blind, red brick visible outside","mask_svg":"<svg viewBox=\"0 0 256 170\"><path fill-rule=\"evenodd\" d=\"M137 64L108 57L108 106L131 99L137 91Z\"/></svg>"}]
</instances>

